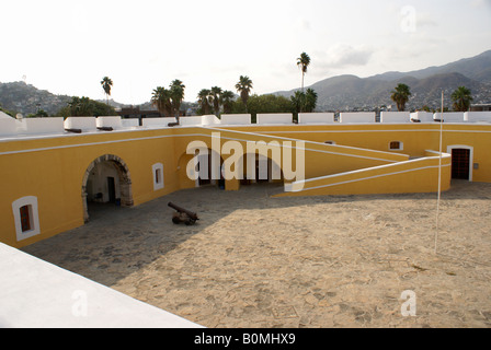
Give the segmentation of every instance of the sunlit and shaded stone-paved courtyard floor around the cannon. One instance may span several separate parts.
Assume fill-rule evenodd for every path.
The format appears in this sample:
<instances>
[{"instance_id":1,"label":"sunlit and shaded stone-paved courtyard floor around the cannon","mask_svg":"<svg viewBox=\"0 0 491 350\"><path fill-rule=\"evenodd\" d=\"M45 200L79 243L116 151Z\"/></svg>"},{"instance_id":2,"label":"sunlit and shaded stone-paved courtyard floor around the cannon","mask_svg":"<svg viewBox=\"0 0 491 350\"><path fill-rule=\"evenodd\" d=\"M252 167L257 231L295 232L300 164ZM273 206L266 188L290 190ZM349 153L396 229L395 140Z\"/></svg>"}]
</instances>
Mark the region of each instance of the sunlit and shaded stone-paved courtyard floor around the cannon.
<instances>
[{"instance_id":1,"label":"sunlit and shaded stone-paved courtyard floor around the cannon","mask_svg":"<svg viewBox=\"0 0 491 350\"><path fill-rule=\"evenodd\" d=\"M23 250L210 328L491 326L491 184L442 195L437 254L436 194L278 190L104 206ZM174 225L169 201L201 220Z\"/></svg>"}]
</instances>

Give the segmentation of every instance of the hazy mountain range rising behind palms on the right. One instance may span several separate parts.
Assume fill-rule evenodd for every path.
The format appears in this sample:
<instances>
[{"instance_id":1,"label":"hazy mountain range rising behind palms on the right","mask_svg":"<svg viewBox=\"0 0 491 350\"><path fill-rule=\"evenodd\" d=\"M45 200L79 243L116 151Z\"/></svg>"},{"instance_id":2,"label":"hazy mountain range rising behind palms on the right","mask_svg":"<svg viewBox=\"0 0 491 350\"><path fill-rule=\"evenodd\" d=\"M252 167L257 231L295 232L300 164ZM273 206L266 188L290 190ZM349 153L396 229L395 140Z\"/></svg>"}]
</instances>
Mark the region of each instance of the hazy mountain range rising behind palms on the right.
<instances>
[{"instance_id":1,"label":"hazy mountain range rising behind palms on the right","mask_svg":"<svg viewBox=\"0 0 491 350\"><path fill-rule=\"evenodd\" d=\"M318 110L352 110L395 105L390 95L398 83L411 88L412 96L407 105L410 109L424 105L439 107L442 89L445 92L445 106L452 107L450 94L463 85L472 91L475 103L491 103L491 50L442 67L411 72L386 72L365 79L339 75L308 88L318 94ZM275 94L288 97L297 90Z\"/></svg>"}]
</instances>

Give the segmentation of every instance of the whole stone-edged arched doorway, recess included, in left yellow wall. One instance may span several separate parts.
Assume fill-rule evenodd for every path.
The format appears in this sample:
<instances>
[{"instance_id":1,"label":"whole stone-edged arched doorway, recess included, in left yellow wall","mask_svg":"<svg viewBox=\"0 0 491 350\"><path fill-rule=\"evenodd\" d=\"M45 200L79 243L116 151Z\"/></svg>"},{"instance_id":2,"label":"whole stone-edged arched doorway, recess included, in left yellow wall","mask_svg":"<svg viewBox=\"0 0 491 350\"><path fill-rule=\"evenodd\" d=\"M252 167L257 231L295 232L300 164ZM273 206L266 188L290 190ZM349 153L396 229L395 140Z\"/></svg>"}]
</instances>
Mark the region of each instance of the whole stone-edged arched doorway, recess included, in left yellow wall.
<instances>
[{"instance_id":1,"label":"whole stone-edged arched doorway, recess included, in left yellow wall","mask_svg":"<svg viewBox=\"0 0 491 350\"><path fill-rule=\"evenodd\" d=\"M89 221L89 202L133 206L132 178L126 163L113 154L94 160L82 179L83 220Z\"/></svg>"}]
</instances>

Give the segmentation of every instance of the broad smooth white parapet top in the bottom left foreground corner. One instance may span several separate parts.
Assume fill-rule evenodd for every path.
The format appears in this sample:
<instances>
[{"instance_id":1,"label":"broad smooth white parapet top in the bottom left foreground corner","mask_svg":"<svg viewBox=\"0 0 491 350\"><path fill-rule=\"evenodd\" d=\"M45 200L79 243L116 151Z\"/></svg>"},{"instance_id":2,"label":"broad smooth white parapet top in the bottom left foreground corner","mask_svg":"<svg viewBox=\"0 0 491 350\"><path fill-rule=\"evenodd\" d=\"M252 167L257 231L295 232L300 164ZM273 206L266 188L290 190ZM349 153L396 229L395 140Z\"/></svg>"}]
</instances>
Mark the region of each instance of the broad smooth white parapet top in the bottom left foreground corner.
<instances>
[{"instance_id":1,"label":"broad smooth white parapet top in the bottom left foreground corner","mask_svg":"<svg viewBox=\"0 0 491 350\"><path fill-rule=\"evenodd\" d=\"M0 328L203 328L0 243Z\"/></svg>"}]
</instances>

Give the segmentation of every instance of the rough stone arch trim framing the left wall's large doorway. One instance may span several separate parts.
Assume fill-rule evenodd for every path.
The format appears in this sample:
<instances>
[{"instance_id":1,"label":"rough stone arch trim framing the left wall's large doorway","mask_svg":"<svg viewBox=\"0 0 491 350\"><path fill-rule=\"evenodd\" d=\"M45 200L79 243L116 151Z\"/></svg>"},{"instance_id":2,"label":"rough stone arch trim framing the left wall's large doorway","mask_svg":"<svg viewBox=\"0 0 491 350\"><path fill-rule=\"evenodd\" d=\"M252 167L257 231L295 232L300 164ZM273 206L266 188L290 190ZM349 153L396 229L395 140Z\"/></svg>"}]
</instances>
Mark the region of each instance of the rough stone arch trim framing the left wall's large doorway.
<instances>
[{"instance_id":1,"label":"rough stone arch trim framing the left wall's large doorway","mask_svg":"<svg viewBox=\"0 0 491 350\"><path fill-rule=\"evenodd\" d=\"M119 192L121 192L121 206L122 207L133 207L133 191L132 191L132 176L129 173L129 168L127 164L117 155L114 154L104 154L100 158L95 159L92 163L89 164L89 166L85 170L85 173L83 174L82 178L82 202L83 202L83 220L85 222L89 221L89 208L87 202L87 184L89 182L89 177L91 175L91 172L102 163L110 163L114 165L114 167L117 171L118 174L118 185L119 185Z\"/></svg>"}]
</instances>

